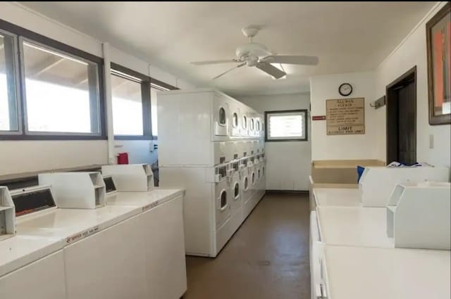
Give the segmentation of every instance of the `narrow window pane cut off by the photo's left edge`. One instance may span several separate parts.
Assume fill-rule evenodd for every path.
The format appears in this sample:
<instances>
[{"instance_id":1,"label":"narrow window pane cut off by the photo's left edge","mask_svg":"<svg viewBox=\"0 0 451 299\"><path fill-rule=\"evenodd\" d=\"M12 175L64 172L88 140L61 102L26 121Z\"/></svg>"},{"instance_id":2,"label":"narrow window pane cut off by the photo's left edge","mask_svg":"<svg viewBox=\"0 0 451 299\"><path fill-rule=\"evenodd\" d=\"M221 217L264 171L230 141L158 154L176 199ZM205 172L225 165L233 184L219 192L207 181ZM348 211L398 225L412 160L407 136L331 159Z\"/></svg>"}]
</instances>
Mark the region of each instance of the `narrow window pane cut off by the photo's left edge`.
<instances>
[{"instance_id":1,"label":"narrow window pane cut off by the photo's left edge","mask_svg":"<svg viewBox=\"0 0 451 299\"><path fill-rule=\"evenodd\" d=\"M14 39L0 34L0 131L18 131Z\"/></svg>"}]
</instances>

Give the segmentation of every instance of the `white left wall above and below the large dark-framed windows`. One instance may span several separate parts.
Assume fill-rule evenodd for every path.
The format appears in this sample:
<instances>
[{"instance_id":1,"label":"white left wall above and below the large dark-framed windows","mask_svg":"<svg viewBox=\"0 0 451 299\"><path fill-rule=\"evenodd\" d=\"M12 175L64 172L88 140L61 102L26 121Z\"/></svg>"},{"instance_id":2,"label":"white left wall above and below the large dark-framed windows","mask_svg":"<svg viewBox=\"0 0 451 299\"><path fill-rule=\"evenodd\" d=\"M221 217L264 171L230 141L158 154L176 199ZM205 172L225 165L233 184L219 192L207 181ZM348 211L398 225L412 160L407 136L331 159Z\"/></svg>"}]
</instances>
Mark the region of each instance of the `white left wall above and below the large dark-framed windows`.
<instances>
[{"instance_id":1,"label":"white left wall above and below the large dark-framed windows","mask_svg":"<svg viewBox=\"0 0 451 299\"><path fill-rule=\"evenodd\" d=\"M0 19L99 57L103 56L101 43L108 42L98 41L87 34L73 30L13 2L0 3ZM111 48L111 61L180 88L192 87L189 82L168 74L147 61L135 58L132 53L123 53L113 47ZM149 148L149 142L121 141L115 142L115 144L122 145L122 149L129 152L131 161L152 163L155 160L153 153L150 153L150 151L142 152L143 148ZM121 148L116 148L116 152L120 151ZM106 162L106 140L0 141L0 175L104 164Z\"/></svg>"}]
</instances>

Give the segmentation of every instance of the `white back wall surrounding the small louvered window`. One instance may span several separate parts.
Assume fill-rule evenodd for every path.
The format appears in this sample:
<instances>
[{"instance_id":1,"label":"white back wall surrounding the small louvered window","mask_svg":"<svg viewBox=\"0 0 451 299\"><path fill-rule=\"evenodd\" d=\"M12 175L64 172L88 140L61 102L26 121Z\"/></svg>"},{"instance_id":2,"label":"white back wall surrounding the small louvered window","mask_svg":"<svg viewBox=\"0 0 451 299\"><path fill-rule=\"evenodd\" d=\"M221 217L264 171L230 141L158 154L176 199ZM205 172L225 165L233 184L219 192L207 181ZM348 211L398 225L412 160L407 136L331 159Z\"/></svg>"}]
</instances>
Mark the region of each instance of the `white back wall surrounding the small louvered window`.
<instances>
[{"instance_id":1,"label":"white back wall surrounding the small louvered window","mask_svg":"<svg viewBox=\"0 0 451 299\"><path fill-rule=\"evenodd\" d=\"M309 94L238 96L237 99L261 114L271 110L308 110L310 105ZM308 190L310 138L309 132L308 141L266 142L266 189Z\"/></svg>"}]
</instances>

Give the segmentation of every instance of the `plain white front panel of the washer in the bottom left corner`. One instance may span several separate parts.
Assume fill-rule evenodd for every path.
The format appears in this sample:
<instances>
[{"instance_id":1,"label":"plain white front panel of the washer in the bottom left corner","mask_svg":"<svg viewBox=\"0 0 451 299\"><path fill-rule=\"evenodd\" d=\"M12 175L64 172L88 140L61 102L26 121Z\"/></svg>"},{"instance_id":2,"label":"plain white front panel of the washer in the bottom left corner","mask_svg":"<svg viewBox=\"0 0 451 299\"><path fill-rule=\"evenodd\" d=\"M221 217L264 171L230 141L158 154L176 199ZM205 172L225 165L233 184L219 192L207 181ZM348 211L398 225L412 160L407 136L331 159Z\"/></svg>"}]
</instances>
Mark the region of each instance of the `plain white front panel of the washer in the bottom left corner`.
<instances>
[{"instance_id":1,"label":"plain white front panel of the washer in the bottom left corner","mask_svg":"<svg viewBox=\"0 0 451 299\"><path fill-rule=\"evenodd\" d=\"M1 276L0 298L66 298L63 250Z\"/></svg>"}]
</instances>

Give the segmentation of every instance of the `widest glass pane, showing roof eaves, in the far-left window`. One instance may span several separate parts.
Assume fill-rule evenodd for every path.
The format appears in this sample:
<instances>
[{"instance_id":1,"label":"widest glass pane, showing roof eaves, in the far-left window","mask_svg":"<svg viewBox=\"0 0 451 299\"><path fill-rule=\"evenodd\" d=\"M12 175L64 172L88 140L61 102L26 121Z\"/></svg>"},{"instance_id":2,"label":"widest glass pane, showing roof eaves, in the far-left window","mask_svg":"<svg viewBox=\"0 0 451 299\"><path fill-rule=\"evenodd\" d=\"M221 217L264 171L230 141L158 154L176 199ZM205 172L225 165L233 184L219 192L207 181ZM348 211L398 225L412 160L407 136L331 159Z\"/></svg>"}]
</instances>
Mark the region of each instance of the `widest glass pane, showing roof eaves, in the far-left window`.
<instances>
[{"instance_id":1,"label":"widest glass pane, showing roof eaves, in the far-left window","mask_svg":"<svg viewBox=\"0 0 451 299\"><path fill-rule=\"evenodd\" d=\"M23 42L29 132L99 133L97 64Z\"/></svg>"}]
</instances>

